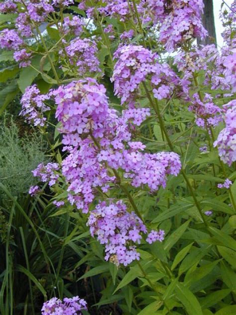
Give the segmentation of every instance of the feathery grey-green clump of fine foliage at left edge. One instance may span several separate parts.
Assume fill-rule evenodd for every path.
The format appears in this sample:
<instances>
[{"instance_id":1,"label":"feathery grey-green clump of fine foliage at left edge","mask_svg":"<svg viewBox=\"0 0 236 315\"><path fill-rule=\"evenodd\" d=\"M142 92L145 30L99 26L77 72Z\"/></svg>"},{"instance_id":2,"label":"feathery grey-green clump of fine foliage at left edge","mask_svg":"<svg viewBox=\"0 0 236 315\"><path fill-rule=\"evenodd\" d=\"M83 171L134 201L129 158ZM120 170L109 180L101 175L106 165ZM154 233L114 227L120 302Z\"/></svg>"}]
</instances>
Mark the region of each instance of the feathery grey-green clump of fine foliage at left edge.
<instances>
[{"instance_id":1,"label":"feathery grey-green clump of fine foliage at left edge","mask_svg":"<svg viewBox=\"0 0 236 315\"><path fill-rule=\"evenodd\" d=\"M12 195L26 193L35 184L31 171L48 160L45 151L41 135L33 132L20 136L12 118L4 117L0 126L0 182Z\"/></svg>"}]
</instances>

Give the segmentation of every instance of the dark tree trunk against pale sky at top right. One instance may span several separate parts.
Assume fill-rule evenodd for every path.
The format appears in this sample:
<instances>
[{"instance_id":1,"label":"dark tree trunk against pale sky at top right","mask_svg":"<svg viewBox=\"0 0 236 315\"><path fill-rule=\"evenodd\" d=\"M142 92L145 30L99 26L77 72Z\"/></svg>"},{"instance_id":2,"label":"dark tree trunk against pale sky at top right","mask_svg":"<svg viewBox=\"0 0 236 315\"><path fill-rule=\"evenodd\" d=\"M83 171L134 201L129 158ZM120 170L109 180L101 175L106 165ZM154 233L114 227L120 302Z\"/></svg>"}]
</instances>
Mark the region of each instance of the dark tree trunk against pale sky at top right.
<instances>
[{"instance_id":1,"label":"dark tree trunk against pale sky at top right","mask_svg":"<svg viewBox=\"0 0 236 315\"><path fill-rule=\"evenodd\" d=\"M219 0L218 0L219 1ZM213 44L217 45L216 38L216 28L215 28L215 19L214 19L214 10L213 10L213 0L203 0L204 2L204 13L202 16L203 26L208 31L208 36L206 39L201 40L198 38L198 45L208 45Z\"/></svg>"}]
</instances>

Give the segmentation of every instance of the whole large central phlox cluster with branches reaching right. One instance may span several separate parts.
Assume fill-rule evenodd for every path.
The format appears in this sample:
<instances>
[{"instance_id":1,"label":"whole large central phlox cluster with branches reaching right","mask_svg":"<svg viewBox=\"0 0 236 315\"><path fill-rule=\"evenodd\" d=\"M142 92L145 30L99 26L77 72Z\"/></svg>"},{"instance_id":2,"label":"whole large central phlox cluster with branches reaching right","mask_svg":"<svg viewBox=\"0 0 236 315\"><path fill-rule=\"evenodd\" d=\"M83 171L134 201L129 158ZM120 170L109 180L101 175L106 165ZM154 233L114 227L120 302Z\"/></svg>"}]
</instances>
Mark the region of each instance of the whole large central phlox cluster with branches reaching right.
<instances>
[{"instance_id":1,"label":"whole large central phlox cluster with branches reaching right","mask_svg":"<svg viewBox=\"0 0 236 315\"><path fill-rule=\"evenodd\" d=\"M179 173L177 154L143 153L145 146L131 141L135 123L146 119L148 109L128 109L118 116L109 108L104 86L90 78L59 87L52 95L64 150L69 151L62 174L69 184L68 199L78 209L88 211L97 187L106 192L114 185L118 180L114 169L122 169L134 187L147 185L151 191L165 187L168 174Z\"/></svg>"}]
</instances>

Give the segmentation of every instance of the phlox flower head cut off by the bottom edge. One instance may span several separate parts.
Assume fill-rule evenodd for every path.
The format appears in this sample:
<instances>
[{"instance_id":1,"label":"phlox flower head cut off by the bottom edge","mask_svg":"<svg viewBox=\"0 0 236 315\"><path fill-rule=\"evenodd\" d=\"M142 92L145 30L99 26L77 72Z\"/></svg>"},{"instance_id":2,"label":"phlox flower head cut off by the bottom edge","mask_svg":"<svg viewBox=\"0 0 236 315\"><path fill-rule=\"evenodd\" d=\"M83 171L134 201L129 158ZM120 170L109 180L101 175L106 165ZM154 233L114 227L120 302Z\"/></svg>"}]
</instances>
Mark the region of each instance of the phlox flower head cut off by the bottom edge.
<instances>
[{"instance_id":1,"label":"phlox flower head cut off by the bottom edge","mask_svg":"<svg viewBox=\"0 0 236 315\"><path fill-rule=\"evenodd\" d=\"M81 311L87 310L87 303L78 296L64 298L63 302L58 298L52 298L43 304L42 315L82 315Z\"/></svg>"}]
</instances>

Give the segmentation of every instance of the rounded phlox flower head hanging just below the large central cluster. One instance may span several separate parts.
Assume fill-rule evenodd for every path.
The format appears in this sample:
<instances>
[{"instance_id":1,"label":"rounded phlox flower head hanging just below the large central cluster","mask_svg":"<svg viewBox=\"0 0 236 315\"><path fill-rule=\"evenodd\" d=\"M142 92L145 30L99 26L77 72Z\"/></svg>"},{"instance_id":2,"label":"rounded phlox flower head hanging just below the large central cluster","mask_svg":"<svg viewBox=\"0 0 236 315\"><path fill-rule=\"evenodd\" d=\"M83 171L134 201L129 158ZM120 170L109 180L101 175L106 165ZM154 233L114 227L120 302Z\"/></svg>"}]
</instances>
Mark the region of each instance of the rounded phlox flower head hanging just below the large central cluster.
<instances>
[{"instance_id":1,"label":"rounded phlox flower head hanging just below the large central cluster","mask_svg":"<svg viewBox=\"0 0 236 315\"><path fill-rule=\"evenodd\" d=\"M127 212L121 200L109 205L105 201L100 202L91 211L87 225L91 235L97 235L99 242L105 244L106 260L124 266L139 260L135 244L140 243L141 232L146 233L147 230L134 212Z\"/></svg>"}]
</instances>

